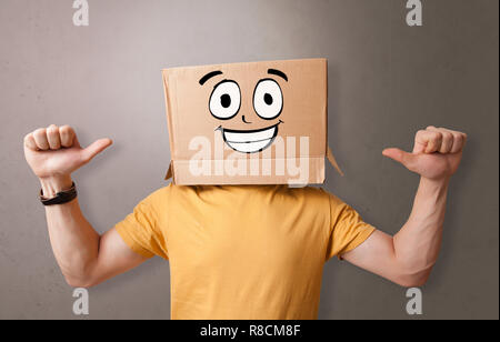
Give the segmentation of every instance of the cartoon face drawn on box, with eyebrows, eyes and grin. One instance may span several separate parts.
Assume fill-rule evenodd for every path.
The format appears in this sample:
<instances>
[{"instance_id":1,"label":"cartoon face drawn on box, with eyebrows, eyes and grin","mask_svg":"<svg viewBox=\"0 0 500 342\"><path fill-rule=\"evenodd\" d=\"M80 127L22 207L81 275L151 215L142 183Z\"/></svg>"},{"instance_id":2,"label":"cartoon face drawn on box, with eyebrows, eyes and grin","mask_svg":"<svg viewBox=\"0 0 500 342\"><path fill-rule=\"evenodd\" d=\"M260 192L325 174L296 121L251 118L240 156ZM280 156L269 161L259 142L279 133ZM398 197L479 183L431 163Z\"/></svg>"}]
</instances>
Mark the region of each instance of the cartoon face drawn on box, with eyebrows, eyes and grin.
<instances>
[{"instance_id":1,"label":"cartoon face drawn on box, with eyebrows, eyes and grin","mask_svg":"<svg viewBox=\"0 0 500 342\"><path fill-rule=\"evenodd\" d=\"M203 86L208 80L222 74L222 71L211 71L203 76L199 82ZM277 76L288 82L287 74L280 70L268 69L268 74ZM272 144L278 135L279 125L283 123L279 120L283 111L281 87L278 81L270 77L257 82L252 98L253 111L259 121L271 122L262 129L252 128L254 121L249 121L244 114L238 115L241 109L241 97L240 86L234 80L224 79L213 87L209 99L209 110L212 117L226 122L240 118L242 122L249 125L249 129L246 130L234 130L220 124L216 130L222 133L226 144L232 150L242 153L260 152Z\"/></svg>"}]
</instances>

